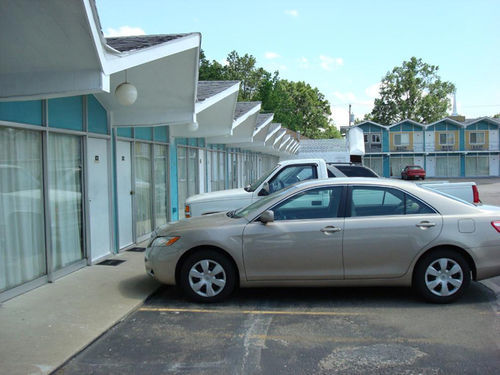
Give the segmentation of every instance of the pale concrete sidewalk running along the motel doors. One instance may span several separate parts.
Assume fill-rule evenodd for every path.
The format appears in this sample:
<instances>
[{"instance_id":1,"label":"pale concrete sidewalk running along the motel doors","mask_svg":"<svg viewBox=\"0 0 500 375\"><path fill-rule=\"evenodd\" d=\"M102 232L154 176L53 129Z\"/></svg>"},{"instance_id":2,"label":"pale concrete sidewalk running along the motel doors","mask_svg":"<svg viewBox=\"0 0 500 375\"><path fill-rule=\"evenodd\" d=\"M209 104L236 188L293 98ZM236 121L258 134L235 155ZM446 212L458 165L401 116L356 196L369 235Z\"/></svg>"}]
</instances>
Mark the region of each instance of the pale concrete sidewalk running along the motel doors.
<instances>
[{"instance_id":1,"label":"pale concrete sidewalk running along the motel doors","mask_svg":"<svg viewBox=\"0 0 500 375\"><path fill-rule=\"evenodd\" d=\"M133 311L160 285L144 253L95 265L0 305L0 374L47 374Z\"/></svg>"}]
</instances>

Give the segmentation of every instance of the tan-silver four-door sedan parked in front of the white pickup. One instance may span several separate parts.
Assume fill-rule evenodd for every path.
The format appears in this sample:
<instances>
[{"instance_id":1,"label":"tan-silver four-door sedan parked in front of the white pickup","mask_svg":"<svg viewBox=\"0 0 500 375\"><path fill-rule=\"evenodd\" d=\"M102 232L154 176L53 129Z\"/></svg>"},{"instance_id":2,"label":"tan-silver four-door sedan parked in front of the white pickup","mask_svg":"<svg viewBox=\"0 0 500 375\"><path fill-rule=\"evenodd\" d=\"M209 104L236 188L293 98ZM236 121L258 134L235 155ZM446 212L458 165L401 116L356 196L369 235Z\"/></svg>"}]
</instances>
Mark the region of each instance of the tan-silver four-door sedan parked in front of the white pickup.
<instances>
[{"instance_id":1,"label":"tan-silver four-door sedan parked in front of the white pickup","mask_svg":"<svg viewBox=\"0 0 500 375\"><path fill-rule=\"evenodd\" d=\"M292 185L248 207L158 229L146 270L192 300L237 287L413 286L451 302L500 275L500 208L389 179Z\"/></svg>"}]
</instances>

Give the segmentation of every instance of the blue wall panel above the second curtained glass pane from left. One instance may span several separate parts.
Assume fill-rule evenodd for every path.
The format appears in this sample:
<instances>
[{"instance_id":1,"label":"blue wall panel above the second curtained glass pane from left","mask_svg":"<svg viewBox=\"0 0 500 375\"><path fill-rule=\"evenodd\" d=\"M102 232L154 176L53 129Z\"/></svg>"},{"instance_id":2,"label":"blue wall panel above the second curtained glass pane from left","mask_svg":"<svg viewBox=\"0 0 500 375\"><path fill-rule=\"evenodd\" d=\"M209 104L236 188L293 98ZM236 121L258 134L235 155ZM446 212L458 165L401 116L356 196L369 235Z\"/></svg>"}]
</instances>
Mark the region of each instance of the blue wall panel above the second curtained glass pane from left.
<instances>
[{"instance_id":1,"label":"blue wall panel above the second curtained glass pane from left","mask_svg":"<svg viewBox=\"0 0 500 375\"><path fill-rule=\"evenodd\" d=\"M49 99L48 115L52 128L83 130L82 97Z\"/></svg>"}]
</instances>

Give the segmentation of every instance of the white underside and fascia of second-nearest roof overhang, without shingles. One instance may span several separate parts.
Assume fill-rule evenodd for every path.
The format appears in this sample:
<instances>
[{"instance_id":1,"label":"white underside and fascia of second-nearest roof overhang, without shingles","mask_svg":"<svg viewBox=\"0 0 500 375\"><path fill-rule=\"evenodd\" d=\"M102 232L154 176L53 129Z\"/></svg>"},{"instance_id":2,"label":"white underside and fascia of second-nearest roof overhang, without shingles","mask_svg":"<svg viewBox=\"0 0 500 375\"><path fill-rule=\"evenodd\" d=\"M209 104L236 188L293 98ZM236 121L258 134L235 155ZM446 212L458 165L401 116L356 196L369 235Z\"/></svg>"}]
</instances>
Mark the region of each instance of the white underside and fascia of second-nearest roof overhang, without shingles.
<instances>
[{"instance_id":1,"label":"white underside and fascia of second-nearest roof overhang, without shingles","mask_svg":"<svg viewBox=\"0 0 500 375\"><path fill-rule=\"evenodd\" d=\"M202 82L200 82L202 83ZM232 135L233 116L240 83L234 83L209 98L197 102L195 106L198 129L190 131L187 127L171 126L173 137L212 137Z\"/></svg>"}]
</instances>

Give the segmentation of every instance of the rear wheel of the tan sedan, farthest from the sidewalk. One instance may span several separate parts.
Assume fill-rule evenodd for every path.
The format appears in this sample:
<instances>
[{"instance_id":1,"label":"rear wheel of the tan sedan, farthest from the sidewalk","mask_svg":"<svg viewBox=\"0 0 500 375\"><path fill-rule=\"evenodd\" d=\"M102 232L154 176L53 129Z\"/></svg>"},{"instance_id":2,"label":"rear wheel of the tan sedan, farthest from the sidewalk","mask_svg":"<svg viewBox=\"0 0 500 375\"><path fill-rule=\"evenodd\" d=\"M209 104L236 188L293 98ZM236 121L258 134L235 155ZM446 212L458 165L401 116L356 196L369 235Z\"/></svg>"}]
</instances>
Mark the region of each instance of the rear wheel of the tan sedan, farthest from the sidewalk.
<instances>
[{"instance_id":1,"label":"rear wheel of the tan sedan, farthest from the sidewalk","mask_svg":"<svg viewBox=\"0 0 500 375\"><path fill-rule=\"evenodd\" d=\"M457 251L440 249L424 255L413 274L413 287L428 302L450 303L471 281L469 264Z\"/></svg>"}]
</instances>

